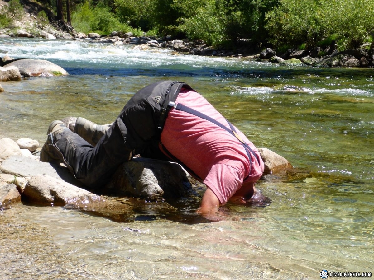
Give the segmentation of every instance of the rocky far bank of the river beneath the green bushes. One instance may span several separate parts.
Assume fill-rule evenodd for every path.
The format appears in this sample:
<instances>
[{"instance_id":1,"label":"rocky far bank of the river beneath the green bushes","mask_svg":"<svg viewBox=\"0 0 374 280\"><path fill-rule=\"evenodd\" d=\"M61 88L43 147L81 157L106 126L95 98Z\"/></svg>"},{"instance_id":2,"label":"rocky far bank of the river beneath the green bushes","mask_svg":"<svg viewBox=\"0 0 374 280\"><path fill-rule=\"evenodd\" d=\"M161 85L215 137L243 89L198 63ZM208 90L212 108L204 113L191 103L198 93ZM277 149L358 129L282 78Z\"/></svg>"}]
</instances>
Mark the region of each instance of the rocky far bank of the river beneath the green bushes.
<instances>
[{"instance_id":1,"label":"rocky far bank of the river beneath the green bushes","mask_svg":"<svg viewBox=\"0 0 374 280\"><path fill-rule=\"evenodd\" d=\"M7 5L7 2L0 0L0 9ZM15 21L12 28L0 29L1 37L40 37L46 39L67 39L67 40L90 40L92 43L109 43L115 45L129 44L139 50L149 48L170 48L175 52L188 55L204 56L233 56L245 57L259 62L272 62L282 64L306 64L315 67L374 67L374 44L362 46L360 49L345 50L340 52L334 41L324 49L316 47L312 50L289 49L283 53L277 53L273 49L265 49L261 53L248 48L246 40L239 39L235 51L223 48L214 49L206 45L202 40L179 40L171 36L162 38L154 36L135 37L131 32L121 33L113 31L108 36L101 36L97 33L67 33L56 30L52 24L40 22L35 7L24 7L25 14L20 21ZM9 54L11 56L11 54ZM29 58L29 57L25 57ZM3 65L0 65L3 66Z\"/></svg>"}]
</instances>

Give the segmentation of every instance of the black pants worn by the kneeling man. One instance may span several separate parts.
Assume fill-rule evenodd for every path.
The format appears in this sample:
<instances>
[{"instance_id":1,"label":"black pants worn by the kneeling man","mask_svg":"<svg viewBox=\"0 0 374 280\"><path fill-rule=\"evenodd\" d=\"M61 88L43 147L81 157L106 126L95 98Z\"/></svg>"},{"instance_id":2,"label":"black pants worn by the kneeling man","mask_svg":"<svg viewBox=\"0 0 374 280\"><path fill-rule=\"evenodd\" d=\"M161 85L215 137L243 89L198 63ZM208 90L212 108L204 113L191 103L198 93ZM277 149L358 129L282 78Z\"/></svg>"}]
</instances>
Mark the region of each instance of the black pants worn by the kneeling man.
<instances>
[{"instance_id":1,"label":"black pants worn by the kneeling man","mask_svg":"<svg viewBox=\"0 0 374 280\"><path fill-rule=\"evenodd\" d=\"M70 130L56 135L54 145L76 178L94 188L105 184L120 164L132 158L134 151L142 157L168 159L158 143L167 115L165 108L175 102L182 87L191 89L181 82L160 81L139 90L96 146Z\"/></svg>"}]
</instances>

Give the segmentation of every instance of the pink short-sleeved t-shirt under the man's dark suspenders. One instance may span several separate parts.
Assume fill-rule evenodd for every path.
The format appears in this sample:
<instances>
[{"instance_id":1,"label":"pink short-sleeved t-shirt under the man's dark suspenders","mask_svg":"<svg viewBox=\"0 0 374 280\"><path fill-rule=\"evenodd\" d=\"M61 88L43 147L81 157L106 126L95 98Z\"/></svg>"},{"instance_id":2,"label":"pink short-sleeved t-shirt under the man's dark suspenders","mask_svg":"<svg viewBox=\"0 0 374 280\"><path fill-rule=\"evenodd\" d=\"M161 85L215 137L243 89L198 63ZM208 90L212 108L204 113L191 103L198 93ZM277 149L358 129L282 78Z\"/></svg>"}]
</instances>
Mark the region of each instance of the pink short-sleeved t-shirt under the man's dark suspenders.
<instances>
[{"instance_id":1,"label":"pink short-sleeved t-shirt under the man's dark suspenders","mask_svg":"<svg viewBox=\"0 0 374 280\"><path fill-rule=\"evenodd\" d=\"M226 119L195 91L183 88L176 103L202 112L230 128ZM202 178L221 204L225 204L240 187L252 187L264 171L264 163L254 144L239 130L236 131L257 154L259 162L252 153L251 159L248 159L239 140L223 128L175 108L166 118L161 142L172 155Z\"/></svg>"}]
</instances>

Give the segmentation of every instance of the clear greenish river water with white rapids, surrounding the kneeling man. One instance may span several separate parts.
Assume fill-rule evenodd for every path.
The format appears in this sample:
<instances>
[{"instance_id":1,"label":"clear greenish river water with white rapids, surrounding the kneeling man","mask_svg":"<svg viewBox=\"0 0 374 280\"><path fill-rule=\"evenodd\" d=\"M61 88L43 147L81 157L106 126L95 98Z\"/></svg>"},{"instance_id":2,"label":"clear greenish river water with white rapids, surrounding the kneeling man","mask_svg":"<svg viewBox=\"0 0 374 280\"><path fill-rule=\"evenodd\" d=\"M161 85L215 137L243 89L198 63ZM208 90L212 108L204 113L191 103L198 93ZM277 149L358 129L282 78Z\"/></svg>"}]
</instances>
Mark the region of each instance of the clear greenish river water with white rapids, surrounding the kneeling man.
<instances>
[{"instance_id":1,"label":"clear greenish river water with white rapids, surrounding the kneeling man","mask_svg":"<svg viewBox=\"0 0 374 280\"><path fill-rule=\"evenodd\" d=\"M88 41L2 39L0 56L6 52L50 60L70 75L1 83L1 137L43 143L49 123L70 115L108 123L142 86L182 80L257 147L312 174L258 182L269 206L230 205L227 220L216 223L186 219L188 204L169 215L166 203L145 205L133 223L57 207L1 212L3 221L47 229L57 248L51 255L61 259L54 260L56 275L321 279L322 269L374 272L373 69L280 66Z\"/></svg>"}]
</instances>

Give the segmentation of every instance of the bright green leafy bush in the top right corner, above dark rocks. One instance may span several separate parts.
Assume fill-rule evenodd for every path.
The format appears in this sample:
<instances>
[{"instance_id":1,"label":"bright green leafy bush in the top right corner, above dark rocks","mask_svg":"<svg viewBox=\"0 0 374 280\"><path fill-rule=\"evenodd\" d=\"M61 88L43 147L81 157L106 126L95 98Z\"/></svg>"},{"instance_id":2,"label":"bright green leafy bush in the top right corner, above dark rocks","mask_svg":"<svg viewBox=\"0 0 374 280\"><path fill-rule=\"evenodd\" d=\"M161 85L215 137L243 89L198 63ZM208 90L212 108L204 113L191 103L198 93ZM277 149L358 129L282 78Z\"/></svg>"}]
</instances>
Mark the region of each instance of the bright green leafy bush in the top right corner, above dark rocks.
<instances>
[{"instance_id":1,"label":"bright green leafy bush in the top right corner, above dark rocks","mask_svg":"<svg viewBox=\"0 0 374 280\"><path fill-rule=\"evenodd\" d=\"M307 48L335 40L339 49L357 48L374 32L374 1L280 0L266 15L274 46ZM333 38L333 39L332 39Z\"/></svg>"}]
</instances>

